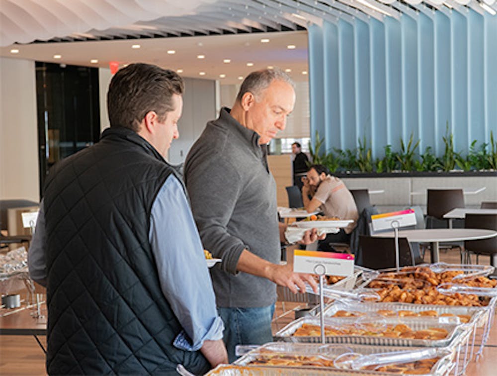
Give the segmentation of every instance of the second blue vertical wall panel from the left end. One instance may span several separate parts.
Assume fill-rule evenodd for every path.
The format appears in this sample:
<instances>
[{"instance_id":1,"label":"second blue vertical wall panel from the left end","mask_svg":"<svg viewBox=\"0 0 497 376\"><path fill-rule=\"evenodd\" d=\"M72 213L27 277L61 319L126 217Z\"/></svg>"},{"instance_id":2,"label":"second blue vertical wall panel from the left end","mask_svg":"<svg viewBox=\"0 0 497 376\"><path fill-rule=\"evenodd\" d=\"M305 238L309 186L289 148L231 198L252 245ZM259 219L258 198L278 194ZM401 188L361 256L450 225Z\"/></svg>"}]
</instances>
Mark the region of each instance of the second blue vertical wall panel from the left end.
<instances>
[{"instance_id":1,"label":"second blue vertical wall panel from the left end","mask_svg":"<svg viewBox=\"0 0 497 376\"><path fill-rule=\"evenodd\" d=\"M324 81L325 81L325 145L326 150L340 147L340 91L338 71L338 29L323 22Z\"/></svg>"}]
</instances>

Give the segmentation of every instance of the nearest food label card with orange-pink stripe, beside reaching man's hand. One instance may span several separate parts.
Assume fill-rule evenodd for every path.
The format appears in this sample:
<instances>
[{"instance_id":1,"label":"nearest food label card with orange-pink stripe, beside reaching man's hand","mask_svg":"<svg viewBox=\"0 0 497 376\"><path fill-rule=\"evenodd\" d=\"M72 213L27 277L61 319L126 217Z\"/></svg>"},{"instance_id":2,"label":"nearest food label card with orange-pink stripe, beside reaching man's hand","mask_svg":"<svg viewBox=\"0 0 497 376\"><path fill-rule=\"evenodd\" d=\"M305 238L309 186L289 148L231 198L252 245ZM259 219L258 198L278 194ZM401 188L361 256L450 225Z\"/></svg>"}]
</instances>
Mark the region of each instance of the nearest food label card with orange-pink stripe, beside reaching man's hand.
<instances>
[{"instance_id":1,"label":"nearest food label card with orange-pink stripe, beside reaching man's hand","mask_svg":"<svg viewBox=\"0 0 497 376\"><path fill-rule=\"evenodd\" d=\"M293 253L293 271L348 277L354 272L354 255L296 249Z\"/></svg>"}]
</instances>

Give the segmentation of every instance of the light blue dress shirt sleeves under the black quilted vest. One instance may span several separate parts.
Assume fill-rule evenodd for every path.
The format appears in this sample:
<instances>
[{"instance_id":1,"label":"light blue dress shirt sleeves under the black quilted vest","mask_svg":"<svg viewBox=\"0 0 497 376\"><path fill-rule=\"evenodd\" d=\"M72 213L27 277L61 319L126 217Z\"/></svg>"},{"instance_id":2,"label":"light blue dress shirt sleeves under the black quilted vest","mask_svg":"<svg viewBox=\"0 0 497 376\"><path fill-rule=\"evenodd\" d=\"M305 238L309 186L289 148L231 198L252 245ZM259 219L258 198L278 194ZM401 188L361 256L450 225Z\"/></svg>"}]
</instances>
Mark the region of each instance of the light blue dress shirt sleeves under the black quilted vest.
<instances>
[{"instance_id":1,"label":"light blue dress shirt sleeves under the black quilted vest","mask_svg":"<svg viewBox=\"0 0 497 376\"><path fill-rule=\"evenodd\" d=\"M183 187L170 175L152 205L149 241L161 289L183 331L174 346L196 351L204 340L223 338L224 324L216 300L200 236ZM46 285L46 230L43 200L28 251L31 278Z\"/></svg>"}]
</instances>

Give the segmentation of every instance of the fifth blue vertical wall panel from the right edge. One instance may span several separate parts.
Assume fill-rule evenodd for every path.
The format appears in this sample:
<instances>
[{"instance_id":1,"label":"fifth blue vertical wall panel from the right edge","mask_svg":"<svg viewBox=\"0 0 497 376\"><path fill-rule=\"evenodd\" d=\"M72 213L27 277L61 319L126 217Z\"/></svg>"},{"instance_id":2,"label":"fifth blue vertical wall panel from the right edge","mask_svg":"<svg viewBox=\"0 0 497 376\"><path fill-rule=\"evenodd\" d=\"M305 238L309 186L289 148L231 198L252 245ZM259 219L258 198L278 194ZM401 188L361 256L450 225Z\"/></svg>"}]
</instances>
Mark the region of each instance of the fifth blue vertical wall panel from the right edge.
<instances>
[{"instance_id":1,"label":"fifth blue vertical wall panel from the right edge","mask_svg":"<svg viewBox=\"0 0 497 376\"><path fill-rule=\"evenodd\" d=\"M435 72L433 21L418 14L418 100L419 100L419 151L434 148L435 140Z\"/></svg>"}]
</instances>

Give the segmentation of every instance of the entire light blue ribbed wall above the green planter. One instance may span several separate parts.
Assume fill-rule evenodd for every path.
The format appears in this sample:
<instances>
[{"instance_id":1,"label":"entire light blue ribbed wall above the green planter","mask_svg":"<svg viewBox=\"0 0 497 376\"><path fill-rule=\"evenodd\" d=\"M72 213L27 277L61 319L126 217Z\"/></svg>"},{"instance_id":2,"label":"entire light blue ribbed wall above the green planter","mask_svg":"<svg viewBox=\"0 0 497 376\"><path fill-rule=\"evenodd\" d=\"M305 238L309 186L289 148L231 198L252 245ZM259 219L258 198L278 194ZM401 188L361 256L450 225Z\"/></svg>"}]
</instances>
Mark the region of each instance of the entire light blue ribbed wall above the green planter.
<instances>
[{"instance_id":1,"label":"entire light blue ribbed wall above the green planter","mask_svg":"<svg viewBox=\"0 0 497 376\"><path fill-rule=\"evenodd\" d=\"M309 26L312 139L374 158L411 133L441 156L447 122L457 152L497 139L497 16L463 9Z\"/></svg>"}]
</instances>

